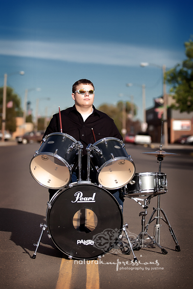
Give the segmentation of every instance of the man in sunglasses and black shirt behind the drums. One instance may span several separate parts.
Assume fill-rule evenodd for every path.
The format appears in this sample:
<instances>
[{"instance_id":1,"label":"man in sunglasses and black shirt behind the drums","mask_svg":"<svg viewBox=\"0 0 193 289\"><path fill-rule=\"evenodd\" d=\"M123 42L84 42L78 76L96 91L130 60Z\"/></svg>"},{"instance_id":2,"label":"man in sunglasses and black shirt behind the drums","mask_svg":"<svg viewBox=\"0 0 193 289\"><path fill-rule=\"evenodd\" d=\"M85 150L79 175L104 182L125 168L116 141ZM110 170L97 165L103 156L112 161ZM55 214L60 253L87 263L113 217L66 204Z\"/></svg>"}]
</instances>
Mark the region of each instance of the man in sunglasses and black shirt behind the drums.
<instances>
[{"instance_id":1,"label":"man in sunglasses and black shirt behind the drums","mask_svg":"<svg viewBox=\"0 0 193 289\"><path fill-rule=\"evenodd\" d=\"M95 142L92 128L96 141L105 137L114 137L119 138L120 140L123 138L113 119L104 112L95 109L93 105L94 85L90 80L80 79L76 81L72 86L72 98L75 101L73 107L61 111L62 130L63 133L69 134L83 144L82 179L86 180L86 147L89 143L93 144ZM53 132L60 132L59 113L53 115L43 137ZM76 180L76 172L74 172L72 182L75 182ZM91 182L97 182L96 173L91 173ZM56 190L49 189L50 199L55 192ZM123 206L124 199L120 197L120 192L118 190L109 190L109 192L111 192L118 203Z\"/></svg>"}]
</instances>

